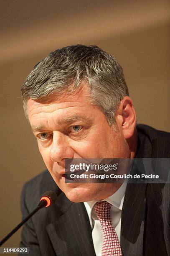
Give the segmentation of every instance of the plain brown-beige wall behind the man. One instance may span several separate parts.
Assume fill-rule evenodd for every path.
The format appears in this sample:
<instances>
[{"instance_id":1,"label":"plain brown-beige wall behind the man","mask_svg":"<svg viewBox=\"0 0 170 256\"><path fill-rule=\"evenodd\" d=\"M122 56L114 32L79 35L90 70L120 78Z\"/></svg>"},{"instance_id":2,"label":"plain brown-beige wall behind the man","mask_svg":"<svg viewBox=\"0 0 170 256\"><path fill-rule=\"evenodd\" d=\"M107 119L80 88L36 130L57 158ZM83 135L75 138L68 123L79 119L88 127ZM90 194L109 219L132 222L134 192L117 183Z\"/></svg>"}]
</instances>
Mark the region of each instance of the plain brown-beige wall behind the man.
<instances>
[{"instance_id":1,"label":"plain brown-beige wall behind the man","mask_svg":"<svg viewBox=\"0 0 170 256\"><path fill-rule=\"evenodd\" d=\"M25 77L58 47L96 44L122 65L138 122L170 131L170 6L165 0L1 0L0 5L1 240L20 222L23 184L45 169L23 115ZM18 246L19 236L4 246Z\"/></svg>"}]
</instances>

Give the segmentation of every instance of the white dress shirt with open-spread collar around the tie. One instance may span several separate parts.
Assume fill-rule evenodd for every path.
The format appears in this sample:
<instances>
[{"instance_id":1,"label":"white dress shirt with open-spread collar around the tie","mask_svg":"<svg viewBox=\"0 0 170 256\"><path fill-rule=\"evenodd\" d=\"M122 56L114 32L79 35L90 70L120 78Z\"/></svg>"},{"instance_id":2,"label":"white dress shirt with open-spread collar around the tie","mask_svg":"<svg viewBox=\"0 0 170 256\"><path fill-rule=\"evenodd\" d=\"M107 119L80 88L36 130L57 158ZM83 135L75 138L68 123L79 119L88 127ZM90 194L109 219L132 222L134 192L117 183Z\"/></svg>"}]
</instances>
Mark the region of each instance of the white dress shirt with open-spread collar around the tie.
<instances>
[{"instance_id":1,"label":"white dress shirt with open-spread collar around the tie","mask_svg":"<svg viewBox=\"0 0 170 256\"><path fill-rule=\"evenodd\" d=\"M114 229L119 238L119 241L120 241L122 206L123 206L126 187L127 187L127 182L125 181L122 184L122 186L117 190L117 192L115 192L112 196L102 200L102 201L107 201L112 205L110 210L110 216L111 216ZM84 202L84 205L86 207L86 210L89 216L91 228L93 229L92 239L94 244L94 250L95 250L96 256L101 256L101 247L103 245L103 234L101 230L101 223L98 220L93 210L93 206L95 205L96 202L98 201L94 200L90 202Z\"/></svg>"}]
</instances>

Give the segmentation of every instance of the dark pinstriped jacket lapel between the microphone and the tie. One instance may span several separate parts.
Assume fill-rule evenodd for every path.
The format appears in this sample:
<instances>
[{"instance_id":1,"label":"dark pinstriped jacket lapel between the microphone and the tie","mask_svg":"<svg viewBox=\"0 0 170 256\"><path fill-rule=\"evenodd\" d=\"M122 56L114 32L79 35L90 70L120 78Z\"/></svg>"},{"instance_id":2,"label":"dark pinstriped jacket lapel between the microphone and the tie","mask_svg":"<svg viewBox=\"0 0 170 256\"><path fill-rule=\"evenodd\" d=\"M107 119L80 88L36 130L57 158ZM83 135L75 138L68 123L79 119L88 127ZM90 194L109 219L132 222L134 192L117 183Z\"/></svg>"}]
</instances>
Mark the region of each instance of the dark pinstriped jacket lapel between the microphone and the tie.
<instances>
[{"instance_id":1,"label":"dark pinstriped jacket lapel between the microphone and the tie","mask_svg":"<svg viewBox=\"0 0 170 256\"><path fill-rule=\"evenodd\" d=\"M95 256L84 204L69 201L61 192L56 204L49 210L46 230L56 255Z\"/></svg>"}]
</instances>

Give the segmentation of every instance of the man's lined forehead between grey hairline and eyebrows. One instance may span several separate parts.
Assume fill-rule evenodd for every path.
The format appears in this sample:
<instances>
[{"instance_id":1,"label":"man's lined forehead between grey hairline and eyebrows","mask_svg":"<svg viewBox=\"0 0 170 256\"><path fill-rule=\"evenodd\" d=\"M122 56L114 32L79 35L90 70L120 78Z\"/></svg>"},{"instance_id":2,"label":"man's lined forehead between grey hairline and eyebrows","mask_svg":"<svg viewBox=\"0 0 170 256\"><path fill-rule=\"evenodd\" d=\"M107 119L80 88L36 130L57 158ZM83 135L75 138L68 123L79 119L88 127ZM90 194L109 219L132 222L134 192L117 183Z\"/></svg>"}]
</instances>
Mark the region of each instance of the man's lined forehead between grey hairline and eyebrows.
<instances>
[{"instance_id":1,"label":"man's lined forehead between grey hairline and eyebrows","mask_svg":"<svg viewBox=\"0 0 170 256\"><path fill-rule=\"evenodd\" d=\"M51 96L50 100L32 100L27 102L28 119L31 126L38 125L38 122L57 124L71 123L76 120L89 122L88 119L96 119L98 116L105 119L103 112L89 101L89 88L85 87L80 92L72 95L62 95L58 97L57 93ZM85 120L85 118L86 120Z\"/></svg>"}]
</instances>

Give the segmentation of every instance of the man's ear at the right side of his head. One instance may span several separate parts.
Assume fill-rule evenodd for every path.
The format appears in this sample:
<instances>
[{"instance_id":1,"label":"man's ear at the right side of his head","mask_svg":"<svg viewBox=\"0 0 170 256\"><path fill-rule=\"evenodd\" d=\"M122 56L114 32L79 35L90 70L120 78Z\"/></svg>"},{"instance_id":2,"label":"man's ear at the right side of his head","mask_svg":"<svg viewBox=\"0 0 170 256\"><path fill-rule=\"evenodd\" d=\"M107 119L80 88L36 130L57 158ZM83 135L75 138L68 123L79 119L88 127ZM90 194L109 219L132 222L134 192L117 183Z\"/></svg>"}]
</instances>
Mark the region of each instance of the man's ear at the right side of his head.
<instances>
[{"instance_id":1,"label":"man's ear at the right side of his head","mask_svg":"<svg viewBox=\"0 0 170 256\"><path fill-rule=\"evenodd\" d=\"M115 115L118 126L122 128L125 139L129 139L134 135L136 128L136 113L132 99L125 96L121 101L119 108Z\"/></svg>"}]
</instances>

